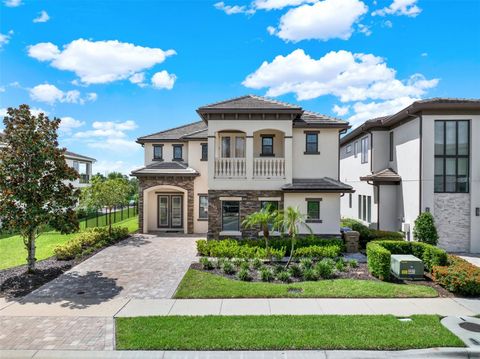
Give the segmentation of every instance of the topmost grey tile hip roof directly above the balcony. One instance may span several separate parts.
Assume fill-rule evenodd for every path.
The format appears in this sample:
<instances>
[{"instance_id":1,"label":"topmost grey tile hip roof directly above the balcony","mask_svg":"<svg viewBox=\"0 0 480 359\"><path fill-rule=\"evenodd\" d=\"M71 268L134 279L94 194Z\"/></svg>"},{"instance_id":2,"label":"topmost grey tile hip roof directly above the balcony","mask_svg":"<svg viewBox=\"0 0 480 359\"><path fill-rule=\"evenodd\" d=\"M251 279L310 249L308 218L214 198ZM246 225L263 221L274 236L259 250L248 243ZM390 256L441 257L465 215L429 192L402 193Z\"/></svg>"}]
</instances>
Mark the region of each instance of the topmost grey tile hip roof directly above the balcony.
<instances>
[{"instance_id":1,"label":"topmost grey tile hip roof directly above the balcony","mask_svg":"<svg viewBox=\"0 0 480 359\"><path fill-rule=\"evenodd\" d=\"M257 95L246 95L228 100L215 102L201 106L198 111L203 110L235 110L235 109L257 109L257 110L301 110L298 105L281 102L267 97Z\"/></svg>"}]
</instances>

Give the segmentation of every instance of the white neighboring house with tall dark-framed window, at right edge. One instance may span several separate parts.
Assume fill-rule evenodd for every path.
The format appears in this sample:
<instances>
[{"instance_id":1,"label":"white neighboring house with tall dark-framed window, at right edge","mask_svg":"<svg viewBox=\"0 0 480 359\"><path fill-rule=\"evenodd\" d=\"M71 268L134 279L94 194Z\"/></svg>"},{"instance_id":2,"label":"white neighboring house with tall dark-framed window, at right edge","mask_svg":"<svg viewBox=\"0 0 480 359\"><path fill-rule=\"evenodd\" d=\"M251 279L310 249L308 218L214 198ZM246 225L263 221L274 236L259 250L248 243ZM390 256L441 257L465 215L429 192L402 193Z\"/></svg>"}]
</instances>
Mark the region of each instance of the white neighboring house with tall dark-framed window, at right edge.
<instances>
[{"instance_id":1,"label":"white neighboring house with tall dark-framed window, at right edge","mask_svg":"<svg viewBox=\"0 0 480 359\"><path fill-rule=\"evenodd\" d=\"M343 217L411 240L429 211L441 247L480 252L480 99L417 101L340 144L340 180L355 189L342 198Z\"/></svg>"}]
</instances>

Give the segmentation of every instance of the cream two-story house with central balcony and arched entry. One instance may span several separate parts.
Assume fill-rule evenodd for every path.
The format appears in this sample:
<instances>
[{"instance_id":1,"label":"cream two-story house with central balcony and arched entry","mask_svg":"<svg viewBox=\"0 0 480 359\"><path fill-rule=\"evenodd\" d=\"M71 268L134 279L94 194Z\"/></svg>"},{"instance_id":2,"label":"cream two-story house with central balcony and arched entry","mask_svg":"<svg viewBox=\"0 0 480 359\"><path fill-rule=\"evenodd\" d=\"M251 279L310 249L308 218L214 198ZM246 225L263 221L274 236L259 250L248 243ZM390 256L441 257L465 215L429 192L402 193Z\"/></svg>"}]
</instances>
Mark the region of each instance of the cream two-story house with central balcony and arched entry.
<instances>
[{"instance_id":1,"label":"cream two-story house with central balcony and arched entry","mask_svg":"<svg viewBox=\"0 0 480 359\"><path fill-rule=\"evenodd\" d=\"M201 121L137 140L141 232L255 236L242 220L271 204L298 207L314 233L339 235L340 197L352 191L338 180L347 122L253 95L197 113Z\"/></svg>"}]
</instances>

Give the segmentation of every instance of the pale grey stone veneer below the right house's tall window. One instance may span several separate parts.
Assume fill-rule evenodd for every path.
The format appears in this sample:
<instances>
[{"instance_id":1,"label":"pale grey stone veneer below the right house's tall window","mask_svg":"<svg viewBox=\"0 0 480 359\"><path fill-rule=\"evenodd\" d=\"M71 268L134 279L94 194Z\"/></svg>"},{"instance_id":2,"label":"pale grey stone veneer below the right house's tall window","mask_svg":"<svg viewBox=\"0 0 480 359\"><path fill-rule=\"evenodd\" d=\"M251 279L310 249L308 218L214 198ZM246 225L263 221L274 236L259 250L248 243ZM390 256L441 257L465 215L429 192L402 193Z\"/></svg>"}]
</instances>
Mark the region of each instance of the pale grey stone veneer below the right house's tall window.
<instances>
[{"instance_id":1,"label":"pale grey stone veneer below the right house's tall window","mask_svg":"<svg viewBox=\"0 0 480 359\"><path fill-rule=\"evenodd\" d=\"M470 194L435 193L434 217L438 246L451 252L470 251Z\"/></svg>"}]
</instances>

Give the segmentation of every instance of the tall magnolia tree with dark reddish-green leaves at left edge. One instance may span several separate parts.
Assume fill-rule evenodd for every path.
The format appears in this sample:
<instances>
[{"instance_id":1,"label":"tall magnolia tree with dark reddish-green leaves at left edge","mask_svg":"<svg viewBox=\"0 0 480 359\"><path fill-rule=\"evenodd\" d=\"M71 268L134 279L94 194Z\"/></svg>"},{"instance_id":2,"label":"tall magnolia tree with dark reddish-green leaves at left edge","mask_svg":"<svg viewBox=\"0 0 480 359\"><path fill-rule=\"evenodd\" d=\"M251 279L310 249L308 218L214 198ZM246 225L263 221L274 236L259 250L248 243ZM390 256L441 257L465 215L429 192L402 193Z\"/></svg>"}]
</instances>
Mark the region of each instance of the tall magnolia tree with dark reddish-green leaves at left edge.
<instances>
[{"instance_id":1,"label":"tall magnolia tree with dark reddish-green leaves at left edge","mask_svg":"<svg viewBox=\"0 0 480 359\"><path fill-rule=\"evenodd\" d=\"M2 227L23 238L28 271L35 270L35 240L49 225L61 233L78 230L74 211L79 191L69 184L78 173L58 148L60 120L34 116L27 105L9 108L4 118L5 147L0 149Z\"/></svg>"}]
</instances>

